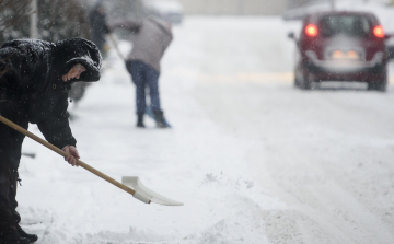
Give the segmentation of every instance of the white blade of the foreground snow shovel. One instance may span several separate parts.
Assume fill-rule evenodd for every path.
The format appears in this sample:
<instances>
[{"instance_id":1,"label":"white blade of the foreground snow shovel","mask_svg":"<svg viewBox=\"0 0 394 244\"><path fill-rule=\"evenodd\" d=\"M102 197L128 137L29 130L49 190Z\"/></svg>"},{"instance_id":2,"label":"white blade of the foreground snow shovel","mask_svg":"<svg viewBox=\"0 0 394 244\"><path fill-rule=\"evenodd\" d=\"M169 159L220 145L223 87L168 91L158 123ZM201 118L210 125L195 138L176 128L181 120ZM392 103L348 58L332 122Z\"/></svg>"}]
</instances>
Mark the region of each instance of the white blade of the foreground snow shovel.
<instances>
[{"instance_id":1,"label":"white blade of the foreground snow shovel","mask_svg":"<svg viewBox=\"0 0 394 244\"><path fill-rule=\"evenodd\" d=\"M146 204L153 201L155 204L165 206L183 206L183 204L179 201L163 197L160 194L157 194L153 190L147 188L137 176L123 176L121 183L136 190L135 195L132 196Z\"/></svg>"}]
</instances>

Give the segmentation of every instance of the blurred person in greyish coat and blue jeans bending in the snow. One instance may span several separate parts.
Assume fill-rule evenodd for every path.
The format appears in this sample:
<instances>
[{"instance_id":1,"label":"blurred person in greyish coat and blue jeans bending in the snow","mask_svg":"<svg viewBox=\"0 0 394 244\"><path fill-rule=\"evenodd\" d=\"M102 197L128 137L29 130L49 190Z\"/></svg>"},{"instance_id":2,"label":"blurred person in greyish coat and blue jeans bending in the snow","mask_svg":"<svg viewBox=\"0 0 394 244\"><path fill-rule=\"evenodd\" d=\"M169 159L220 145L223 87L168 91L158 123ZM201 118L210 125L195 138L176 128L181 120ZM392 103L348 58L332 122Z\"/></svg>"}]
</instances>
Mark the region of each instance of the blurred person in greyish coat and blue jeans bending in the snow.
<instances>
[{"instance_id":1,"label":"blurred person in greyish coat and blue jeans bending in the snow","mask_svg":"<svg viewBox=\"0 0 394 244\"><path fill-rule=\"evenodd\" d=\"M159 77L160 61L173 39L171 24L149 16L142 22L120 20L109 26L112 31L123 27L135 34L131 39L132 49L126 58L126 68L136 84L137 127L144 127L146 88L148 88L157 127L169 128L160 105Z\"/></svg>"}]
</instances>

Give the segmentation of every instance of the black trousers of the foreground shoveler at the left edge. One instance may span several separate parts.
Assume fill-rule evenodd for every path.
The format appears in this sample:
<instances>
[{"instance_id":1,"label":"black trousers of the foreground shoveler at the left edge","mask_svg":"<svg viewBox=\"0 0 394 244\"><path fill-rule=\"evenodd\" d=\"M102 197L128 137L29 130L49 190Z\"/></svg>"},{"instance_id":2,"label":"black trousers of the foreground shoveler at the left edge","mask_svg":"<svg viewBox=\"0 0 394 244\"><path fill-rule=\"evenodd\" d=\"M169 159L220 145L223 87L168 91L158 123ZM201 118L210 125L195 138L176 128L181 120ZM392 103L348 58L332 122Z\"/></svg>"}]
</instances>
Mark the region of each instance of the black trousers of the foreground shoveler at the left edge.
<instances>
[{"instance_id":1,"label":"black trousers of the foreground shoveler at the left edge","mask_svg":"<svg viewBox=\"0 0 394 244\"><path fill-rule=\"evenodd\" d=\"M27 129L27 115L21 106L0 101L0 114ZM0 236L16 232L20 222L15 197L23 139L24 135L0 123Z\"/></svg>"}]
</instances>

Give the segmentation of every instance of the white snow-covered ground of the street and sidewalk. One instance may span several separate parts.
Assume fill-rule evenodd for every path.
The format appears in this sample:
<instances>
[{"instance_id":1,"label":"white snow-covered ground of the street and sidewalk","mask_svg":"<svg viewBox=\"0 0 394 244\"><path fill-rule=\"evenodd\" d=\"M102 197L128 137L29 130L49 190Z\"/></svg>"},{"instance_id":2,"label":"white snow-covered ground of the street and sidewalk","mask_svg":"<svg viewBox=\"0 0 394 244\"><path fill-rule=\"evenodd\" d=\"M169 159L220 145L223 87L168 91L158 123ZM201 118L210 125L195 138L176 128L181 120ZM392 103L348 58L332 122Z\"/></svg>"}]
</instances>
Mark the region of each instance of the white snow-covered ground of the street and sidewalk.
<instances>
[{"instance_id":1,"label":"white snow-covered ground of the street and sidewalk","mask_svg":"<svg viewBox=\"0 0 394 244\"><path fill-rule=\"evenodd\" d=\"M37 244L393 243L394 86L294 89L286 36L298 26L187 18L162 62L165 130L135 127L134 85L113 50L71 105L81 159L185 205L144 205L25 139L37 156L20 166L23 226Z\"/></svg>"}]
</instances>

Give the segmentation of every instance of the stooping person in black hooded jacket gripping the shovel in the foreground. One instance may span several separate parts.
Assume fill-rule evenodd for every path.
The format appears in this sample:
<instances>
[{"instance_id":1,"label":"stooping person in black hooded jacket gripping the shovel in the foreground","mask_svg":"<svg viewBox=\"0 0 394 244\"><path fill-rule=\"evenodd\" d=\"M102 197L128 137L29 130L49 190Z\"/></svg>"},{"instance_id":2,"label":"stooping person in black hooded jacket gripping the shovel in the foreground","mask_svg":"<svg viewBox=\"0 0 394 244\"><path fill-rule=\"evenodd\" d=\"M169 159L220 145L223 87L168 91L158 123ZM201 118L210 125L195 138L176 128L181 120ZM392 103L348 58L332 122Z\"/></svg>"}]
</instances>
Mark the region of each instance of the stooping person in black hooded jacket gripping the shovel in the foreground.
<instances>
[{"instance_id":1,"label":"stooping person in black hooded jacket gripping the shovel in the foreground","mask_svg":"<svg viewBox=\"0 0 394 244\"><path fill-rule=\"evenodd\" d=\"M96 45L82 38L57 43L15 39L0 48L0 115L27 129L36 124L45 139L71 154L79 152L68 121L68 94L77 81L99 81L102 63ZM18 167L24 135L0 123L0 243L28 244L16 212Z\"/></svg>"}]
</instances>

